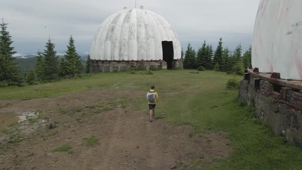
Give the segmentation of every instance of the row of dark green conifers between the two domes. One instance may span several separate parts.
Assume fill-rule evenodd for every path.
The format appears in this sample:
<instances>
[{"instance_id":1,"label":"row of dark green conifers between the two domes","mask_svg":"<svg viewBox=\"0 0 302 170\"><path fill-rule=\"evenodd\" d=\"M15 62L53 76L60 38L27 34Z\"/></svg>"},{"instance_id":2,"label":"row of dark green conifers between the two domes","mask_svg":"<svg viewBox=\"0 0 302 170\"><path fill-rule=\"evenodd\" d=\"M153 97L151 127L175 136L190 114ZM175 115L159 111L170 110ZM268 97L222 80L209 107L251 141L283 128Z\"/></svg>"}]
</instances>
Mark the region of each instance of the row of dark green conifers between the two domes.
<instances>
[{"instance_id":1,"label":"row of dark green conifers between the two domes","mask_svg":"<svg viewBox=\"0 0 302 170\"><path fill-rule=\"evenodd\" d=\"M184 69L213 70L243 75L244 70L251 66L252 48L250 46L246 52L242 53L241 45L238 45L233 52L230 52L227 47L223 48L223 41L220 38L215 50L212 45L207 45L204 41L197 52L188 44L184 55Z\"/></svg>"}]
</instances>

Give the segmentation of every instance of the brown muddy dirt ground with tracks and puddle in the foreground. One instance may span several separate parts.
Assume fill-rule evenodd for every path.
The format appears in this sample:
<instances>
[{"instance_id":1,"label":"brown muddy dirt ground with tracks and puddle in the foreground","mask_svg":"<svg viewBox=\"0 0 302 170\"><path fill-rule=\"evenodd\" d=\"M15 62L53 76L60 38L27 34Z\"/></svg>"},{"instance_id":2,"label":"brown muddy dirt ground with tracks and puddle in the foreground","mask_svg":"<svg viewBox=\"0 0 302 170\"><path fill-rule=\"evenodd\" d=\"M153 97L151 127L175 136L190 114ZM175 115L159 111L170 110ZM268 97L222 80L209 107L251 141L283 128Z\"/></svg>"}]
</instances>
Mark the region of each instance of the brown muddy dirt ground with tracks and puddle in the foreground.
<instances>
[{"instance_id":1,"label":"brown muddy dirt ground with tracks and puddle in the foreground","mask_svg":"<svg viewBox=\"0 0 302 170\"><path fill-rule=\"evenodd\" d=\"M84 91L0 100L2 117L36 115L0 132L0 169L198 169L228 157L231 148L222 133L190 137L192 126L149 122L147 105L138 105L144 96Z\"/></svg>"}]
</instances>

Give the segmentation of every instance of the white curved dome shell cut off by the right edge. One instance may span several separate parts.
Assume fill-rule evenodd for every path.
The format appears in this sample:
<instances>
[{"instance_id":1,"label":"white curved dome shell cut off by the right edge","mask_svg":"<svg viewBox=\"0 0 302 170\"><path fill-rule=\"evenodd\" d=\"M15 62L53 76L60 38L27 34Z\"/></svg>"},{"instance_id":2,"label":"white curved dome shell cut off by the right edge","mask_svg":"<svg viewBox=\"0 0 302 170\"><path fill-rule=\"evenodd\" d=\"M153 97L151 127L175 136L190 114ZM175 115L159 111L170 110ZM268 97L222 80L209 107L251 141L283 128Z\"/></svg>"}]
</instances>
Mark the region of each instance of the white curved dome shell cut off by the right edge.
<instances>
[{"instance_id":1,"label":"white curved dome shell cut off by the right edge","mask_svg":"<svg viewBox=\"0 0 302 170\"><path fill-rule=\"evenodd\" d=\"M252 66L281 78L302 79L302 1L261 0L253 35Z\"/></svg>"}]
</instances>

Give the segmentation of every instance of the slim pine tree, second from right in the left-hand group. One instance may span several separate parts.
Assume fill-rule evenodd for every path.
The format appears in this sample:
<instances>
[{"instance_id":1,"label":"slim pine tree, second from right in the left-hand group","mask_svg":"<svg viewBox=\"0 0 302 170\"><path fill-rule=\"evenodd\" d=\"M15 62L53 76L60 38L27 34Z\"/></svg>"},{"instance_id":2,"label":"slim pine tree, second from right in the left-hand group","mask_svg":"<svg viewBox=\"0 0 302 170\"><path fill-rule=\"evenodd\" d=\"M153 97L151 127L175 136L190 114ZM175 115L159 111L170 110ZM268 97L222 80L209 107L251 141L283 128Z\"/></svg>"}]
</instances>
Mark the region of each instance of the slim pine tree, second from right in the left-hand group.
<instances>
[{"instance_id":1,"label":"slim pine tree, second from right in the left-hand group","mask_svg":"<svg viewBox=\"0 0 302 170\"><path fill-rule=\"evenodd\" d=\"M50 39L46 42L46 50L44 50L44 75L45 80L51 81L58 76L58 56L56 56L55 45Z\"/></svg>"}]
</instances>

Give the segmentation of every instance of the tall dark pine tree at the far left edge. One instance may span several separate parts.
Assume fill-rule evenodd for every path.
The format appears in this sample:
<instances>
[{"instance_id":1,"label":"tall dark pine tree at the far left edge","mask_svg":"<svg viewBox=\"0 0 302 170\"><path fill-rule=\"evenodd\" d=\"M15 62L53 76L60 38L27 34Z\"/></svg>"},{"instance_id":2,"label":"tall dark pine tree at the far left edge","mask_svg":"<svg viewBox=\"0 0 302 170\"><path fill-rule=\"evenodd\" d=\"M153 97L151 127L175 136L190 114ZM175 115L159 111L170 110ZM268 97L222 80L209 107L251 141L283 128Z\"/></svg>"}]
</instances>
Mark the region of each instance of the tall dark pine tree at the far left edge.
<instances>
[{"instance_id":1,"label":"tall dark pine tree at the far left edge","mask_svg":"<svg viewBox=\"0 0 302 170\"><path fill-rule=\"evenodd\" d=\"M0 24L0 81L6 81L8 86L18 85L20 86L21 77L19 75L19 69L14 62L14 47L11 47L13 41L7 29L7 23Z\"/></svg>"}]
</instances>

